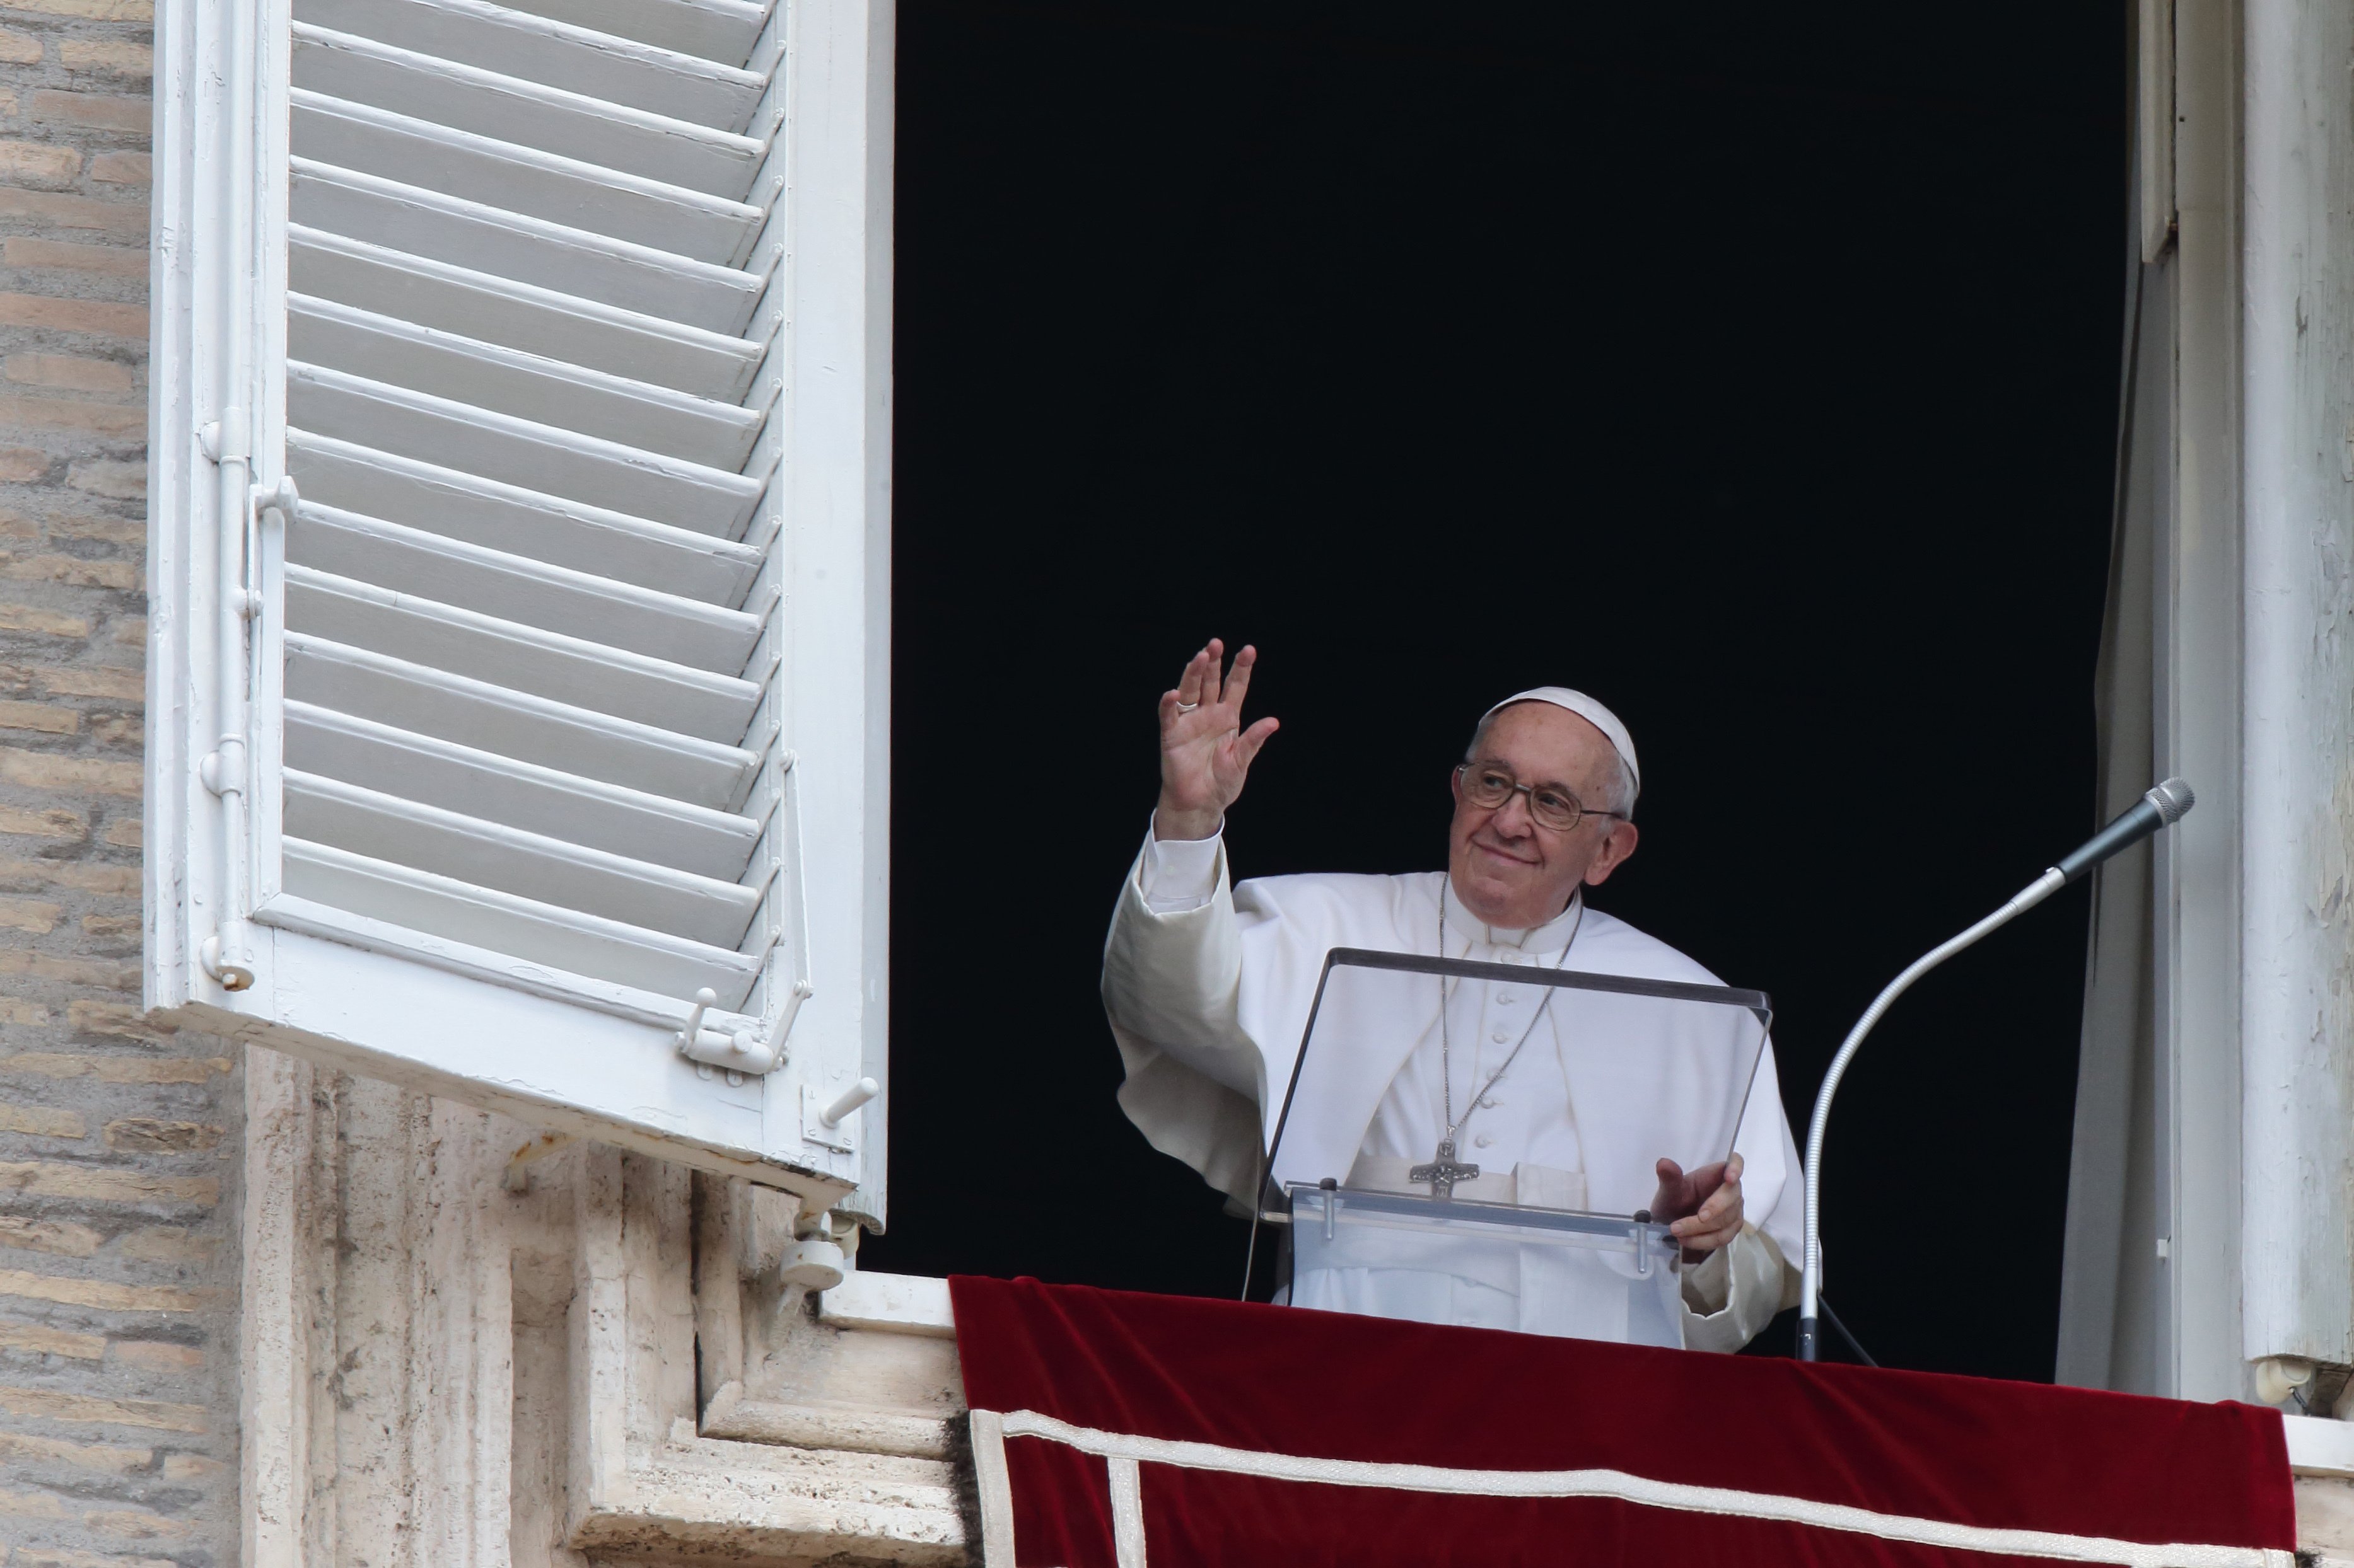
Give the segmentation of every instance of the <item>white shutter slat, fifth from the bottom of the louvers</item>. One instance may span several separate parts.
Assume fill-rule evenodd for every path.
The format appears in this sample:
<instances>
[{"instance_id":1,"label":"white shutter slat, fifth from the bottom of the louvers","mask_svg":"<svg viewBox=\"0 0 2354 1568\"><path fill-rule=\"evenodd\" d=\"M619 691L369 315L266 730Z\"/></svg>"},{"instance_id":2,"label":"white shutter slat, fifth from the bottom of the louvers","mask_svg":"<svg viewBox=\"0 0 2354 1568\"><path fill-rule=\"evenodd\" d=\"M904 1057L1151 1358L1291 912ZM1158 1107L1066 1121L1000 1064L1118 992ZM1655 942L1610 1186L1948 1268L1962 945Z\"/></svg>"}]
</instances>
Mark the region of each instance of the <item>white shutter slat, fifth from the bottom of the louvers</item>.
<instances>
[{"instance_id":1,"label":"white shutter slat, fifth from the bottom of the louvers","mask_svg":"<svg viewBox=\"0 0 2354 1568\"><path fill-rule=\"evenodd\" d=\"M287 629L473 676L661 730L730 744L760 687L588 638L501 622L311 567L287 567Z\"/></svg>"}]
</instances>

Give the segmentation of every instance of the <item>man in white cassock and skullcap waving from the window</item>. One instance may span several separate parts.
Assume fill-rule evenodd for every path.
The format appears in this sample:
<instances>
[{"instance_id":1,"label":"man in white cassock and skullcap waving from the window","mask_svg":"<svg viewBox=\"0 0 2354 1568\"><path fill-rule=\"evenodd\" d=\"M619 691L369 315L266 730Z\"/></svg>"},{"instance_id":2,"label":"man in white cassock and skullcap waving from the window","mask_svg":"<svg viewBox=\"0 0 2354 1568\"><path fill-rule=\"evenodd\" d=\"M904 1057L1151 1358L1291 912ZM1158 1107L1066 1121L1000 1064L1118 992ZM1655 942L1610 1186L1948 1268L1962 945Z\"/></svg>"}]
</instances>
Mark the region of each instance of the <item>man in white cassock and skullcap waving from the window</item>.
<instances>
[{"instance_id":1,"label":"man in white cassock and skullcap waving from the window","mask_svg":"<svg viewBox=\"0 0 2354 1568\"><path fill-rule=\"evenodd\" d=\"M1128 1069L1121 1109L1156 1149L1236 1201L1255 1198L1316 979L1335 946L1718 984L1664 942L1587 909L1584 890L1634 855L1643 775L1617 716L1565 687L1521 692L1481 718L1452 772L1445 873L1229 883L1226 808L1276 732L1274 718L1243 725L1255 659L1245 647L1229 671L1212 640L1161 695L1161 803L1104 944L1104 1010ZM1542 1175L1547 1191L1518 1201L1587 1208L1565 1055L1549 1022L1523 1024L1511 1001L1511 989L1462 984L1431 1008L1431 1026L1401 1045L1405 1059L1379 1090L1351 1187L1408 1189L1415 1156L1429 1161L1441 1140L1452 1147L1459 1137L1462 1156L1495 1175L1457 1187L1457 1196L1514 1201L1504 1172L1518 1172L1523 1187ZM1523 1003L1521 1012L1535 1010ZM1455 1062L1457 1052L1467 1059ZM1375 1088L1363 1088L1370 1099ZM1688 1092L1737 1102L1742 1085L1690 1083ZM1629 1114L1664 1123L1674 1107L1610 1114L1615 1142L1641 1142L1641 1125L1620 1123ZM1653 1149L1667 1142L1662 1125ZM1784 1300L1796 1300L1796 1269L1784 1260L1798 1253L1798 1154L1770 1043L1735 1149L1693 1170L1657 1161L1650 1210L1674 1220L1683 1243L1681 1330L1693 1349L1740 1349ZM1302 1304L1379 1311L1365 1300ZM1457 1321L1509 1326L1511 1302Z\"/></svg>"}]
</instances>

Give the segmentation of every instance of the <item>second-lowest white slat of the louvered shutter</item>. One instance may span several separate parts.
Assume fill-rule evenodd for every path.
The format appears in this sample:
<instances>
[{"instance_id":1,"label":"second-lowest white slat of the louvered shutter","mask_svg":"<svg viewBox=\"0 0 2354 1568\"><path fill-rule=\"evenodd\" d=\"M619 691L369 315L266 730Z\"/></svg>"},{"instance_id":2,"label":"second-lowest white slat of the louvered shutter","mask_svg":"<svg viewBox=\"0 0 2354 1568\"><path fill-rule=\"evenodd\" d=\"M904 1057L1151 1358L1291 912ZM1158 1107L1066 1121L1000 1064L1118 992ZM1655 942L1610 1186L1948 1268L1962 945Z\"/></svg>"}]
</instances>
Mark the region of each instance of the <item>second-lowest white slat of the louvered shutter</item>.
<instances>
[{"instance_id":1,"label":"second-lowest white slat of the louvered shutter","mask_svg":"<svg viewBox=\"0 0 2354 1568\"><path fill-rule=\"evenodd\" d=\"M760 890L285 770L287 833L706 946L744 939ZM581 972L586 965L567 965Z\"/></svg>"}]
</instances>

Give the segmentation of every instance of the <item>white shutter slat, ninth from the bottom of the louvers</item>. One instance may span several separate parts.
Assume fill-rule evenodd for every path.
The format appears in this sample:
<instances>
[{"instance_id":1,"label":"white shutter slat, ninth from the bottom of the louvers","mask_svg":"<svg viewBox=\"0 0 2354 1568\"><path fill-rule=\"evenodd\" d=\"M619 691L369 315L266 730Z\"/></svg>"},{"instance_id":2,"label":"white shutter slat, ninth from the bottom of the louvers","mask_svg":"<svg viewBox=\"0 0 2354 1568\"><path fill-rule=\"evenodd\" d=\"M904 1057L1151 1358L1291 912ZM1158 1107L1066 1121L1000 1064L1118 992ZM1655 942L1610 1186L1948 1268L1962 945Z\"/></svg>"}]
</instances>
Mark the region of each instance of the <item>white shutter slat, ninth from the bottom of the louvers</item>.
<instances>
[{"instance_id":1,"label":"white shutter slat, ninth from the bottom of the louvers","mask_svg":"<svg viewBox=\"0 0 2354 1568\"><path fill-rule=\"evenodd\" d=\"M311 365L725 471L744 466L767 414L311 294L287 294L287 351Z\"/></svg>"}]
</instances>

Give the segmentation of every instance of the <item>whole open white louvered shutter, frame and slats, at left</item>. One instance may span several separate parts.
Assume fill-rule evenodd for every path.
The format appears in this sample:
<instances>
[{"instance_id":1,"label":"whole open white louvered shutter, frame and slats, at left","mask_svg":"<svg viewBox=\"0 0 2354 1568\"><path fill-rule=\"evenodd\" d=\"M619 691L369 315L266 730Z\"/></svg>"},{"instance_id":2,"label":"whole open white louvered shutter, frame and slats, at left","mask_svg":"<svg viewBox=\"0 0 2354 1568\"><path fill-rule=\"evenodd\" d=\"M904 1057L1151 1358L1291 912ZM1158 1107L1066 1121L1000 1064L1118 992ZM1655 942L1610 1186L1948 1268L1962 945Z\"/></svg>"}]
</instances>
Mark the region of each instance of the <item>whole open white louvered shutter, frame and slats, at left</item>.
<instances>
[{"instance_id":1,"label":"whole open white louvered shutter, frame and slats, at left","mask_svg":"<svg viewBox=\"0 0 2354 1568\"><path fill-rule=\"evenodd\" d=\"M160 19L148 1003L880 1217L887 0L523 2Z\"/></svg>"}]
</instances>

